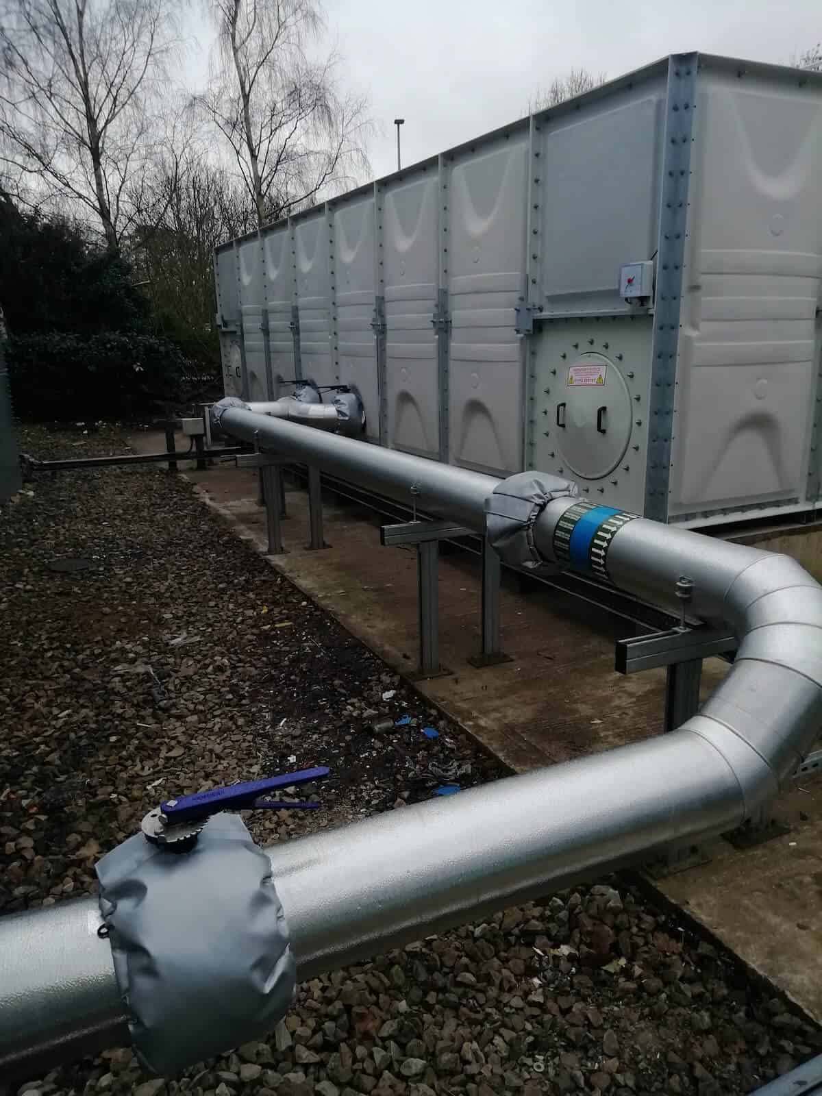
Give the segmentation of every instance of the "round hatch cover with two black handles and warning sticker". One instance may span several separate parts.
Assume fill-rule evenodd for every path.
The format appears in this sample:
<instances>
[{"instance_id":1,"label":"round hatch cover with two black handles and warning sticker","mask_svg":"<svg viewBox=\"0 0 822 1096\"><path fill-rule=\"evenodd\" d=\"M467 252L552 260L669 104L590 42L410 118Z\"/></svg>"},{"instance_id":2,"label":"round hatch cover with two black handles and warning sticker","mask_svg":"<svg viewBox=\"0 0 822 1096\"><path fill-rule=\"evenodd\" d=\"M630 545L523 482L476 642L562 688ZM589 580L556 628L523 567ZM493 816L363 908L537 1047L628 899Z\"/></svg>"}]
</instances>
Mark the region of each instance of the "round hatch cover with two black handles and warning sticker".
<instances>
[{"instance_id":1,"label":"round hatch cover with two black handles and warning sticker","mask_svg":"<svg viewBox=\"0 0 822 1096\"><path fill-rule=\"evenodd\" d=\"M581 354L568 366L557 427L557 446L570 471L601 479L616 468L631 436L631 400L609 358Z\"/></svg>"}]
</instances>

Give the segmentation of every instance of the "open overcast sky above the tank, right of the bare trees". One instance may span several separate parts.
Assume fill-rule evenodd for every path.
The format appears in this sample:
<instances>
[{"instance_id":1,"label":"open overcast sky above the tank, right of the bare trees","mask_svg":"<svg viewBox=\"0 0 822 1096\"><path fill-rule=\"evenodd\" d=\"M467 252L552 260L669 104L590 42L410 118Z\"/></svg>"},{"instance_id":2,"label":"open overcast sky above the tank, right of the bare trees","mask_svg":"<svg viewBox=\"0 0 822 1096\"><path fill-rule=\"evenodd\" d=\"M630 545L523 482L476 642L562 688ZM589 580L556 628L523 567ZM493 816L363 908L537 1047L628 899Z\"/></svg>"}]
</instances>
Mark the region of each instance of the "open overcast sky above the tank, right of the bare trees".
<instances>
[{"instance_id":1,"label":"open overcast sky above the tank, right of the bare trees","mask_svg":"<svg viewBox=\"0 0 822 1096\"><path fill-rule=\"evenodd\" d=\"M820 0L326 0L347 84L368 94L380 127L375 176L527 113L570 68L617 77L684 50L790 64L822 39ZM191 38L210 33L192 16ZM202 58L202 50L199 53ZM190 49L190 82L204 66Z\"/></svg>"}]
</instances>

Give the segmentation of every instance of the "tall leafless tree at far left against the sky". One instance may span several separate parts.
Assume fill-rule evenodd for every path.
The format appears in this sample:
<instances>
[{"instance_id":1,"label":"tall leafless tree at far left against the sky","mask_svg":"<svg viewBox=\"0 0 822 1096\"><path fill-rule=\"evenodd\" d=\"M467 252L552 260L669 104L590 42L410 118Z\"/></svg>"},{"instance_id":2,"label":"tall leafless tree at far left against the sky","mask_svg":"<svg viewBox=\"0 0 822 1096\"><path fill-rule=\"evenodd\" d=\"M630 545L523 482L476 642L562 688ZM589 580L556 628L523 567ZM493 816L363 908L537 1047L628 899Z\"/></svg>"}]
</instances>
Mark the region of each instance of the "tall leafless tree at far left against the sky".
<instances>
[{"instance_id":1,"label":"tall leafless tree at far left against the sky","mask_svg":"<svg viewBox=\"0 0 822 1096\"><path fill-rule=\"evenodd\" d=\"M160 135L151 105L174 45L172 0L7 0L0 163L37 201L84 210L116 251Z\"/></svg>"}]
</instances>

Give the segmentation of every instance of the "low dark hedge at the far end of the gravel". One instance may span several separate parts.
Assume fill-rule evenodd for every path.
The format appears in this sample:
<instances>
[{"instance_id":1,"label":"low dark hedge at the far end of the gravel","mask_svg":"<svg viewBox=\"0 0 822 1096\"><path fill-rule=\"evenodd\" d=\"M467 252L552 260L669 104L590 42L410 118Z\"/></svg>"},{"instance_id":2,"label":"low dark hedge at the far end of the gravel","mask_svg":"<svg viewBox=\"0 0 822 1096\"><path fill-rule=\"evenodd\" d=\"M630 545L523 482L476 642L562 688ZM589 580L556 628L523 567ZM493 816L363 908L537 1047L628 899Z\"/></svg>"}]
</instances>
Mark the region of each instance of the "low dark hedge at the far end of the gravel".
<instances>
[{"instance_id":1,"label":"low dark hedge at the far end of the gravel","mask_svg":"<svg viewBox=\"0 0 822 1096\"><path fill-rule=\"evenodd\" d=\"M135 421L164 414L219 377L204 378L167 339L106 331L12 335L5 344L18 415L39 421Z\"/></svg>"}]
</instances>

